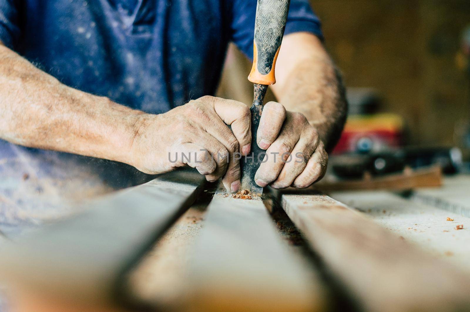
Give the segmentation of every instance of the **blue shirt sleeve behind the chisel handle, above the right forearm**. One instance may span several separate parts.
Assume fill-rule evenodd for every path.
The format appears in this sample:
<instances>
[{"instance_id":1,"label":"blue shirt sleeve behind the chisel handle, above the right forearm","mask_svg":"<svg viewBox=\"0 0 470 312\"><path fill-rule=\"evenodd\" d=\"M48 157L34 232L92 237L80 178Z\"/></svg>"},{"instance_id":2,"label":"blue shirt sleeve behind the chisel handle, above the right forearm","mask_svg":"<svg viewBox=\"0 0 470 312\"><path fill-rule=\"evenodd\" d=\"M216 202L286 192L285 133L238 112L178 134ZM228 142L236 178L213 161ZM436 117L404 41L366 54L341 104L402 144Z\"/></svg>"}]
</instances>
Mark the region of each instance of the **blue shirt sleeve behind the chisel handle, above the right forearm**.
<instances>
[{"instance_id":1,"label":"blue shirt sleeve behind the chisel handle, above the right forearm","mask_svg":"<svg viewBox=\"0 0 470 312\"><path fill-rule=\"evenodd\" d=\"M309 0L290 0L284 35L309 32L323 40L320 20L308 2ZM233 0L232 3L231 41L252 59L257 0Z\"/></svg>"}]
</instances>

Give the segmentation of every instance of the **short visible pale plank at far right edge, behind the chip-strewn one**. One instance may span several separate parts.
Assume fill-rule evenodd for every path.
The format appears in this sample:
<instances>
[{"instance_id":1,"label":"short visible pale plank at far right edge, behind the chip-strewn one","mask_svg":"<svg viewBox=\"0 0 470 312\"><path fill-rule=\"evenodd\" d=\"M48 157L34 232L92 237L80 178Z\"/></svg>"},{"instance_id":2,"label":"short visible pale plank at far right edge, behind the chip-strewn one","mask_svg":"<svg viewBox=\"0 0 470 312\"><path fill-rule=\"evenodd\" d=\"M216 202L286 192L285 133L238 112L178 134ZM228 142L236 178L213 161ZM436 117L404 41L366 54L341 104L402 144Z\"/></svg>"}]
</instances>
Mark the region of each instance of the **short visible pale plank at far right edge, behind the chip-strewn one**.
<instances>
[{"instance_id":1,"label":"short visible pale plank at far right edge, behind the chip-strewn one","mask_svg":"<svg viewBox=\"0 0 470 312\"><path fill-rule=\"evenodd\" d=\"M470 175L444 179L440 189L416 189L410 199L470 218Z\"/></svg>"}]
</instances>

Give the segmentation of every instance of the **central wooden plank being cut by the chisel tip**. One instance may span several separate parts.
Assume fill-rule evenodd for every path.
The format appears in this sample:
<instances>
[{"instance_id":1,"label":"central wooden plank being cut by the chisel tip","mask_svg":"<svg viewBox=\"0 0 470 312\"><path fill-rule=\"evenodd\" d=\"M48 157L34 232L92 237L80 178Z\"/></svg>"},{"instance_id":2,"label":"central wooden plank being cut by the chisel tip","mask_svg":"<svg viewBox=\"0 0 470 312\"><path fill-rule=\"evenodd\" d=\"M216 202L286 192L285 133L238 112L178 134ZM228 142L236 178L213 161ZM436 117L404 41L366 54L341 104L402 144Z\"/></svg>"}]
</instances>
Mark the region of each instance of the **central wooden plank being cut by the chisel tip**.
<instances>
[{"instance_id":1,"label":"central wooden plank being cut by the chisel tip","mask_svg":"<svg viewBox=\"0 0 470 312\"><path fill-rule=\"evenodd\" d=\"M196 311L318 311L324 290L274 228L259 197L217 194L188 271Z\"/></svg>"}]
</instances>

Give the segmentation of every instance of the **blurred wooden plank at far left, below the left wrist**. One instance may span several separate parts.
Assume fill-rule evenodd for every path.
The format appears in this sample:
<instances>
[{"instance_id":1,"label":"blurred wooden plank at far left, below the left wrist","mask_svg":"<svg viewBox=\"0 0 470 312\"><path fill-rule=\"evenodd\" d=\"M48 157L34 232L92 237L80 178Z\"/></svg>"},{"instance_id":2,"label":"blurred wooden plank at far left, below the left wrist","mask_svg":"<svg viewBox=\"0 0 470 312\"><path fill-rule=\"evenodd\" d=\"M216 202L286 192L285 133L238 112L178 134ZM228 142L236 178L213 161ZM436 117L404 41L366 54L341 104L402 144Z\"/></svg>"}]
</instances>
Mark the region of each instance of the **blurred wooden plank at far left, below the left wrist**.
<instances>
[{"instance_id":1,"label":"blurred wooden plank at far left, below the left wrist","mask_svg":"<svg viewBox=\"0 0 470 312\"><path fill-rule=\"evenodd\" d=\"M94 200L72 218L3 246L0 276L80 302L126 300L126 272L194 201L204 177L171 172Z\"/></svg>"}]
</instances>

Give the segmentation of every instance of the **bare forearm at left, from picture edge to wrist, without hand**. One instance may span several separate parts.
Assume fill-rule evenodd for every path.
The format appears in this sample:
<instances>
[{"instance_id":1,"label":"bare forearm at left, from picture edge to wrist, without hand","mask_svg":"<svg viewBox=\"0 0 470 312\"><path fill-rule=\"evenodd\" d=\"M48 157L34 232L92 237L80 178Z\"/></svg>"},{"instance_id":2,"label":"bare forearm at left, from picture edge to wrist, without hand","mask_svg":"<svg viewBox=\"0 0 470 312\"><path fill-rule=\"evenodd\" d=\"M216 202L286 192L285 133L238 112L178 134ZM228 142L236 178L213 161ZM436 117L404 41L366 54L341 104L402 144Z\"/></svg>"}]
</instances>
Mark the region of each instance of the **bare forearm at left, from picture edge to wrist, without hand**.
<instances>
[{"instance_id":1,"label":"bare forearm at left, from picture edge to wrist, without hand","mask_svg":"<svg viewBox=\"0 0 470 312\"><path fill-rule=\"evenodd\" d=\"M139 116L60 83L0 45L0 138L126 162Z\"/></svg>"}]
</instances>

